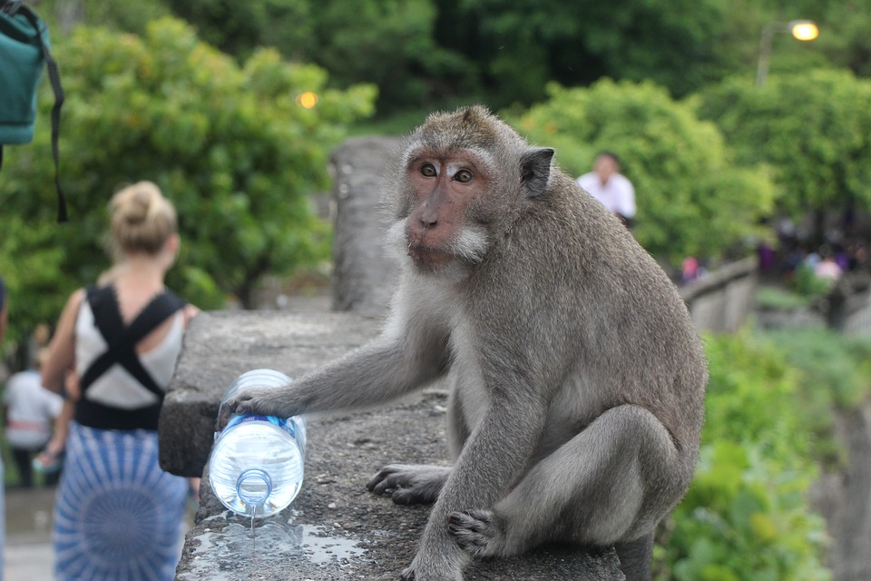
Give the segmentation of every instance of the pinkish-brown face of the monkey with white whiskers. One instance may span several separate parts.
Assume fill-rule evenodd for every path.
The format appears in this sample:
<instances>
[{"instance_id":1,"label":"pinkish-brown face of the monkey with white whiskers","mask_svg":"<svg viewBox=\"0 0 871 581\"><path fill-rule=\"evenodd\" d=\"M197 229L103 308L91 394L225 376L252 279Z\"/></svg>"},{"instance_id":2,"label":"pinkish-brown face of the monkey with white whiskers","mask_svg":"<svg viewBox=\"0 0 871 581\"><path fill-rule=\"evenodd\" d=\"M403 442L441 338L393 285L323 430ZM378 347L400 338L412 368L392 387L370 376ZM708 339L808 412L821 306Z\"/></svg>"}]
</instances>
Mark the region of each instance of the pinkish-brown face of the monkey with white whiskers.
<instances>
[{"instance_id":1,"label":"pinkish-brown face of the monkey with white whiskers","mask_svg":"<svg viewBox=\"0 0 871 581\"><path fill-rule=\"evenodd\" d=\"M408 256L421 271L475 264L487 249L476 209L490 189L480 153L419 151L406 164L409 213L403 221Z\"/></svg>"}]
</instances>

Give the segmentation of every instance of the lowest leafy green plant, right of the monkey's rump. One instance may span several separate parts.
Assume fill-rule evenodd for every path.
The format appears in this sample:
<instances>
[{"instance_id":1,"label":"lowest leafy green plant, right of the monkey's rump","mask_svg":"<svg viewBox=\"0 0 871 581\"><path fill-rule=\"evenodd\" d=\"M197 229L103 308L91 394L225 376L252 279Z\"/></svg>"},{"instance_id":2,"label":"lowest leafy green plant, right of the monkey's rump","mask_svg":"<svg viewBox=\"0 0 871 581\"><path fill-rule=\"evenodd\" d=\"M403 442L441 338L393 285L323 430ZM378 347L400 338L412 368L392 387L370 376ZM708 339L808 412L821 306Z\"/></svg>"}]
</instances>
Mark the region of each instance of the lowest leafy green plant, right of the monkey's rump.
<instances>
[{"instance_id":1,"label":"lowest leafy green plant, right of the monkey's rump","mask_svg":"<svg viewBox=\"0 0 871 581\"><path fill-rule=\"evenodd\" d=\"M815 471L783 469L753 442L701 450L687 497L670 517L666 553L676 581L823 581L827 537L807 507Z\"/></svg>"}]
</instances>

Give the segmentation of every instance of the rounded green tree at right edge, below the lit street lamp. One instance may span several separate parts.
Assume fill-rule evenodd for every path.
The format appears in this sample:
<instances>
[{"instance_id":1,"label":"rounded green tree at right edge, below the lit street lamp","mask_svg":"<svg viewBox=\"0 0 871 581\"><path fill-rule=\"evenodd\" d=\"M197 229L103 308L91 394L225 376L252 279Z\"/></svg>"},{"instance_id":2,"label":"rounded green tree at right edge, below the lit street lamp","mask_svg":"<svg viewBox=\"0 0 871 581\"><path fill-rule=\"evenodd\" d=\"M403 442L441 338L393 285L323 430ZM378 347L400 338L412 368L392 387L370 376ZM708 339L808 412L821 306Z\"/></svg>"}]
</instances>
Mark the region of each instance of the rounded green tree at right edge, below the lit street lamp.
<instances>
[{"instance_id":1,"label":"rounded green tree at right edge, below the lit street lamp","mask_svg":"<svg viewBox=\"0 0 871 581\"><path fill-rule=\"evenodd\" d=\"M782 210L795 217L858 202L871 209L871 81L845 71L771 75L765 87L731 78L693 99L736 161L777 168Z\"/></svg>"}]
</instances>

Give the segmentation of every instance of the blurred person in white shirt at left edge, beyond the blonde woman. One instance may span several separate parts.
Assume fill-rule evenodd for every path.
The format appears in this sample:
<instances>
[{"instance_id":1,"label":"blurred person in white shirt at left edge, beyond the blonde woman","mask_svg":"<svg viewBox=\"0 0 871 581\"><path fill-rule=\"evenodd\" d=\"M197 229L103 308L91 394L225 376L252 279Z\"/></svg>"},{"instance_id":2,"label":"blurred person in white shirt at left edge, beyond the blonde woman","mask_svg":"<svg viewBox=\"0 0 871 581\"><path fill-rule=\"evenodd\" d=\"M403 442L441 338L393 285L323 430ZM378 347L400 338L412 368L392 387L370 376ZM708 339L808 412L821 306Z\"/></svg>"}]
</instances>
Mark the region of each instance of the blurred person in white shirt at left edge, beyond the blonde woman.
<instances>
[{"instance_id":1,"label":"blurred person in white shirt at left edge, beyond the blonde woman","mask_svg":"<svg viewBox=\"0 0 871 581\"><path fill-rule=\"evenodd\" d=\"M46 355L40 350L37 367ZM12 450L22 487L34 485L32 462L34 455L52 437L52 423L64 407L64 399L43 387L37 369L27 369L12 375L3 394L6 440ZM56 478L48 482L55 484Z\"/></svg>"}]
</instances>

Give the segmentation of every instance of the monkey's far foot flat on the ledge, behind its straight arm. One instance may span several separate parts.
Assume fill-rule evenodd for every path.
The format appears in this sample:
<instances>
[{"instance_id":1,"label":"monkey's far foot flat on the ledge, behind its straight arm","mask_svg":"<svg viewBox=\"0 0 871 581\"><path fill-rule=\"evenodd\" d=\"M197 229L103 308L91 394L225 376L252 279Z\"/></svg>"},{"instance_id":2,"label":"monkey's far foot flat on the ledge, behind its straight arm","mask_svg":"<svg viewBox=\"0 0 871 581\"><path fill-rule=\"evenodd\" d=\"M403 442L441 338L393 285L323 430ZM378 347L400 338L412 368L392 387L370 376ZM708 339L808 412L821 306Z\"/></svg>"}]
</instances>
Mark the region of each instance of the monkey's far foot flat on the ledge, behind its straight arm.
<instances>
[{"instance_id":1,"label":"monkey's far foot flat on the ledge, behind its straight arm","mask_svg":"<svg viewBox=\"0 0 871 581\"><path fill-rule=\"evenodd\" d=\"M390 464L368 481L377 495L390 494L397 505L432 504L454 468L425 464Z\"/></svg>"}]
</instances>

